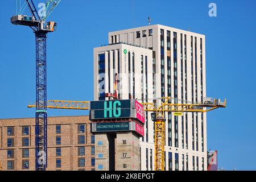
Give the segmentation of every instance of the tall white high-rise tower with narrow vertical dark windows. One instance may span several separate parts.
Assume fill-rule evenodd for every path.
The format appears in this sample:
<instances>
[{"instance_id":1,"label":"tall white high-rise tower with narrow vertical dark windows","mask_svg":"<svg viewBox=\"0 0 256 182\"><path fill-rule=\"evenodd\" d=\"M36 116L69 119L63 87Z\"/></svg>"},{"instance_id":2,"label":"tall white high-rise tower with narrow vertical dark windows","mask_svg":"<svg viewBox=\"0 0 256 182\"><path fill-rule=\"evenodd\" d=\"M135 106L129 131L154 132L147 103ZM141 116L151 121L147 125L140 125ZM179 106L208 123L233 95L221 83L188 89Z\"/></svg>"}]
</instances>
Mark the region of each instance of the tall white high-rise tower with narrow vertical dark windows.
<instances>
[{"instance_id":1,"label":"tall white high-rise tower with narrow vertical dark windows","mask_svg":"<svg viewBox=\"0 0 256 182\"><path fill-rule=\"evenodd\" d=\"M113 93L115 73L121 99L203 102L205 36L159 24L109 32L109 46L94 48L94 100ZM154 170L154 122L145 114L141 169ZM166 170L207 170L206 114L166 113L165 150Z\"/></svg>"}]
</instances>

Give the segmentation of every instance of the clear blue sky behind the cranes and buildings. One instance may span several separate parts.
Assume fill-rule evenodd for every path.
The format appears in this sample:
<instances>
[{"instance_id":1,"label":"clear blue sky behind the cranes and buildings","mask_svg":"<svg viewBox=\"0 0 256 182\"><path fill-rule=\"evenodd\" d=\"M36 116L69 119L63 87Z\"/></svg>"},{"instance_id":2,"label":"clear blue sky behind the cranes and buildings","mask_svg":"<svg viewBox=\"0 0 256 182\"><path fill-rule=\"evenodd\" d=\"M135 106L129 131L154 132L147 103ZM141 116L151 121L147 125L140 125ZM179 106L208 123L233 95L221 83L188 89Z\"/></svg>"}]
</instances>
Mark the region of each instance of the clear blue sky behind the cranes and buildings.
<instances>
[{"instance_id":1,"label":"clear blue sky behind the cranes and buildings","mask_svg":"<svg viewBox=\"0 0 256 182\"><path fill-rule=\"evenodd\" d=\"M35 0L36 5L44 0ZM217 5L217 17L208 5ZM15 27L15 0L0 9L0 118L34 117L35 38ZM61 1L50 19L48 99L93 100L93 47L108 42L109 31L164 24L204 34L207 96L227 98L228 107L207 114L208 148L218 150L218 166L256 169L255 72L256 1ZM48 115L84 115L85 111L48 110Z\"/></svg>"}]
</instances>

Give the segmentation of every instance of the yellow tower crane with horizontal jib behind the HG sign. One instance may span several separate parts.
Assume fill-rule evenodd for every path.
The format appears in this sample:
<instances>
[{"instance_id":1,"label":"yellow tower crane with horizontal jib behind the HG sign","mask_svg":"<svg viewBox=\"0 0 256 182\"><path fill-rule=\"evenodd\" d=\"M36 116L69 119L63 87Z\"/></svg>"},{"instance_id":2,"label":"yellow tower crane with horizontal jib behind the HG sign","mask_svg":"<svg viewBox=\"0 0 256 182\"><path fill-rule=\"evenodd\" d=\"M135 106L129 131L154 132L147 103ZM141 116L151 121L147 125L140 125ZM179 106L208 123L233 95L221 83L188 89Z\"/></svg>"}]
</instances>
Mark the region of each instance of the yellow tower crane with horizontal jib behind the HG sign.
<instances>
[{"instance_id":1,"label":"yellow tower crane with horizontal jib behind the HG sign","mask_svg":"<svg viewBox=\"0 0 256 182\"><path fill-rule=\"evenodd\" d=\"M172 97L162 97L152 99L154 102L142 102L144 111L152 111L151 117L155 121L155 170L164 170L164 113L174 112L174 115L179 116L182 113L206 113L220 107L226 107L226 99L221 102L220 99L204 98L203 103L193 103L183 100L177 100ZM160 100L160 105L156 101ZM182 104L171 103L172 100L182 102ZM36 107L36 105L28 105L29 108ZM50 109L78 109L89 110L90 101L63 101L63 100L49 100L47 101L47 108Z\"/></svg>"}]
</instances>

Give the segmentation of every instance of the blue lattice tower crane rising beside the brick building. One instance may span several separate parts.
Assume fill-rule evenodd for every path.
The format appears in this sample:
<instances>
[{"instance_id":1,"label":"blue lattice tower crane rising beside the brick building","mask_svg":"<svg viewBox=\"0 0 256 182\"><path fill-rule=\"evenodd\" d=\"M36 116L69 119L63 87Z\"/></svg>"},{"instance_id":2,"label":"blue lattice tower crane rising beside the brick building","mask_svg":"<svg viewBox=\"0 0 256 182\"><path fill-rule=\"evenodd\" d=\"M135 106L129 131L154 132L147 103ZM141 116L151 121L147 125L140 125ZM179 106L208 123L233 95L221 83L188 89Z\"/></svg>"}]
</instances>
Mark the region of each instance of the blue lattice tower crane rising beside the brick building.
<instances>
[{"instance_id":1,"label":"blue lattice tower crane rising beside the brick building","mask_svg":"<svg viewBox=\"0 0 256 182\"><path fill-rule=\"evenodd\" d=\"M42 15L39 15L32 0L24 0L22 9L28 7L31 15L22 12L11 17L11 23L28 26L36 38L36 113L35 113L35 168L45 171L47 167L47 93L46 93L46 39L56 30L55 22L46 19L61 0L47 0Z\"/></svg>"}]
</instances>

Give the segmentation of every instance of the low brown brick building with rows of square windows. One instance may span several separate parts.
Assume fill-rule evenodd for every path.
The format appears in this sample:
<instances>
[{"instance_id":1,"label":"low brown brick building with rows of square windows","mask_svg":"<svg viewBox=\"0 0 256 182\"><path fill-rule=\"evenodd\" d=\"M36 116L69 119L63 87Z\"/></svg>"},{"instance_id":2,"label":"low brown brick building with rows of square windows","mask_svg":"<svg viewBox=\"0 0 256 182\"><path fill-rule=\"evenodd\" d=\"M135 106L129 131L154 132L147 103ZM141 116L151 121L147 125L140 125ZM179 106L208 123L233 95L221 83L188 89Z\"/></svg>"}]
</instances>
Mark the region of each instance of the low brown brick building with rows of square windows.
<instances>
[{"instance_id":1,"label":"low brown brick building with rows of square windows","mask_svg":"<svg viewBox=\"0 0 256 182\"><path fill-rule=\"evenodd\" d=\"M94 170L88 116L48 118L47 170ZM0 119L0 170L35 170L35 118Z\"/></svg>"}]
</instances>

